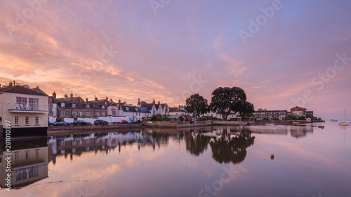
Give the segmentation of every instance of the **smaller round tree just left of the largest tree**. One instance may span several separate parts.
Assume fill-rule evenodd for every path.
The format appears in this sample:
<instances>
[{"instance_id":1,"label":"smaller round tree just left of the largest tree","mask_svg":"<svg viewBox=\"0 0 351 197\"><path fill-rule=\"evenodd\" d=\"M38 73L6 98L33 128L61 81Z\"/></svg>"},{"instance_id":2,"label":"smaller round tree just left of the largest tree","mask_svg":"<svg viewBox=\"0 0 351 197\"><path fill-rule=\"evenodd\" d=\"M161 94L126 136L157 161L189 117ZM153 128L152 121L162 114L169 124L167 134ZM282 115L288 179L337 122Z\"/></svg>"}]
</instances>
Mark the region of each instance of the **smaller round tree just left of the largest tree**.
<instances>
[{"instance_id":1,"label":"smaller round tree just left of the largest tree","mask_svg":"<svg viewBox=\"0 0 351 197\"><path fill-rule=\"evenodd\" d=\"M198 115L205 114L208 111L207 100L199 94L190 95L187 97L185 109L190 113Z\"/></svg>"}]
</instances>

